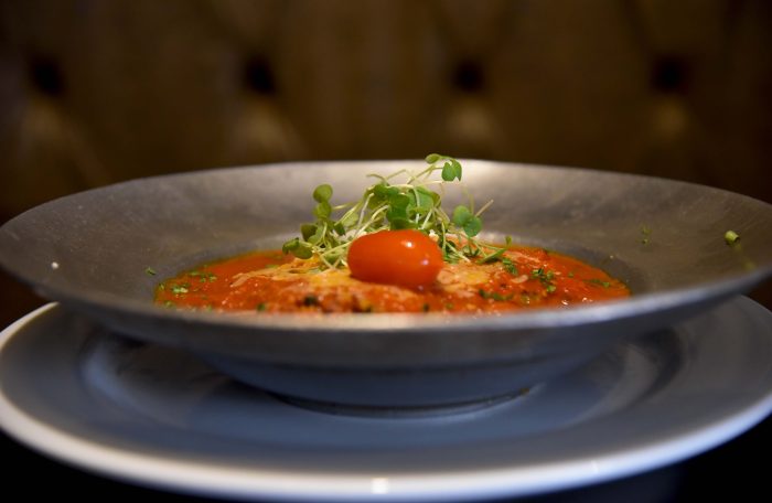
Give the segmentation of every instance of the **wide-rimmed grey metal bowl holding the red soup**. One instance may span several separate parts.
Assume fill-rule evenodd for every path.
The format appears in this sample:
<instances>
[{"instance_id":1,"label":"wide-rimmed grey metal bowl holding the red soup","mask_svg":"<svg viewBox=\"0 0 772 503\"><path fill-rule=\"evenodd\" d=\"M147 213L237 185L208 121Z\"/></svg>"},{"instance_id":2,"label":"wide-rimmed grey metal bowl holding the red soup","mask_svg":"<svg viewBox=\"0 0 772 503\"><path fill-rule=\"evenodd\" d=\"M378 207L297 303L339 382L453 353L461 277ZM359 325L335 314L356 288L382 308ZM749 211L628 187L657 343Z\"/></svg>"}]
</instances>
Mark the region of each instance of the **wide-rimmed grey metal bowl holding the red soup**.
<instances>
[{"instance_id":1,"label":"wide-rimmed grey metal bowl holding the red soup","mask_svg":"<svg viewBox=\"0 0 772 503\"><path fill-rule=\"evenodd\" d=\"M467 160L492 240L564 252L625 281L630 299L496 315L222 314L152 303L200 263L276 248L312 220L313 188L358 199L367 173L421 161L219 169L120 183L35 207L0 228L0 264L42 296L246 383L309 403L467 407L516 395L626 338L748 291L772 272L772 205L689 183ZM463 194L449 192L447 207ZM729 246L725 233L740 240ZM146 272L148 268L156 276Z\"/></svg>"}]
</instances>

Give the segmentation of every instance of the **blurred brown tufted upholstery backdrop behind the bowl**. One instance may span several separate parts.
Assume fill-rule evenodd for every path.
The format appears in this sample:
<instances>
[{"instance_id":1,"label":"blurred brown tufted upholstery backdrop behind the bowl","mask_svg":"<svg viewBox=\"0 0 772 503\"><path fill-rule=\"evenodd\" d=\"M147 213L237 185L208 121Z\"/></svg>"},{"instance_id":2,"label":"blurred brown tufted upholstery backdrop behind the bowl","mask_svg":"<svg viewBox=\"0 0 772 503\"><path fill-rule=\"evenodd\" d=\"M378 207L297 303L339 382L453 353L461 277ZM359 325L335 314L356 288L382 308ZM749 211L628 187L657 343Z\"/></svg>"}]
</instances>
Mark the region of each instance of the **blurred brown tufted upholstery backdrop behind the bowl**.
<instances>
[{"instance_id":1,"label":"blurred brown tufted upholstery backdrop behind the bowl","mask_svg":"<svg viewBox=\"0 0 772 503\"><path fill-rule=\"evenodd\" d=\"M772 202L770 28L765 0L3 0L0 221L139 176L430 151ZM42 302L0 281L3 325Z\"/></svg>"}]
</instances>

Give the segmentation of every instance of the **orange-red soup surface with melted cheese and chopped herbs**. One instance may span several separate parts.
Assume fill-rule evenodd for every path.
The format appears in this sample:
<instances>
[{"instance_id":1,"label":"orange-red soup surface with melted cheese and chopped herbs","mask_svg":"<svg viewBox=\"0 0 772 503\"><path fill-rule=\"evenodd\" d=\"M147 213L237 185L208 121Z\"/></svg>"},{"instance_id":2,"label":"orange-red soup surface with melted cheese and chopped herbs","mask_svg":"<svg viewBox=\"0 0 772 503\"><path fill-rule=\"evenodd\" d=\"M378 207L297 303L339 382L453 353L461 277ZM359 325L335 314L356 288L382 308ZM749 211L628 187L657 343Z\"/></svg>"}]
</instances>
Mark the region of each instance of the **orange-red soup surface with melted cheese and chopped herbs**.
<instances>
[{"instance_id":1,"label":"orange-red soup surface with melted cheese and chopped herbs","mask_svg":"<svg viewBox=\"0 0 772 503\"><path fill-rule=\"evenodd\" d=\"M601 269L542 248L513 246L491 264L444 264L430 286L367 282L318 259L256 252L202 265L160 283L156 302L253 312L492 313L630 296Z\"/></svg>"}]
</instances>

